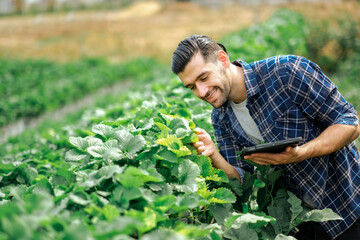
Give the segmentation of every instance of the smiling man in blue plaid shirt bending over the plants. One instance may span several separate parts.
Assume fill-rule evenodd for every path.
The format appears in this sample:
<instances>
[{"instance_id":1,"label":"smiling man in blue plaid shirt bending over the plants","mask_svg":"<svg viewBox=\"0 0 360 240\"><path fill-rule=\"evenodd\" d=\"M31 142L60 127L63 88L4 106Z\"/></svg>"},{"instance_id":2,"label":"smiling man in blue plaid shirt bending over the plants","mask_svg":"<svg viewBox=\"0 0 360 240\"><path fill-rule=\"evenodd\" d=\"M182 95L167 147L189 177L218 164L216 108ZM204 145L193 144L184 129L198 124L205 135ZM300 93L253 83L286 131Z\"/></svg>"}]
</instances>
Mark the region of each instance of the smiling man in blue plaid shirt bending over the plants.
<instances>
[{"instance_id":1,"label":"smiling man in blue plaid shirt bending over the plants","mask_svg":"<svg viewBox=\"0 0 360 240\"><path fill-rule=\"evenodd\" d=\"M230 62L223 45L192 35L176 48L172 70L186 88L214 107L219 151L209 134L199 130L199 142L194 144L199 153L228 177L240 180L244 171L252 171L235 158L244 146L302 137L304 144L282 153L257 153L245 159L283 168L290 189L306 204L331 208L344 218L321 223L316 239L360 239L360 162L354 143L359 120L315 63L292 55L250 64ZM306 231L296 237L306 239ZM315 239L313 234L309 239Z\"/></svg>"}]
</instances>

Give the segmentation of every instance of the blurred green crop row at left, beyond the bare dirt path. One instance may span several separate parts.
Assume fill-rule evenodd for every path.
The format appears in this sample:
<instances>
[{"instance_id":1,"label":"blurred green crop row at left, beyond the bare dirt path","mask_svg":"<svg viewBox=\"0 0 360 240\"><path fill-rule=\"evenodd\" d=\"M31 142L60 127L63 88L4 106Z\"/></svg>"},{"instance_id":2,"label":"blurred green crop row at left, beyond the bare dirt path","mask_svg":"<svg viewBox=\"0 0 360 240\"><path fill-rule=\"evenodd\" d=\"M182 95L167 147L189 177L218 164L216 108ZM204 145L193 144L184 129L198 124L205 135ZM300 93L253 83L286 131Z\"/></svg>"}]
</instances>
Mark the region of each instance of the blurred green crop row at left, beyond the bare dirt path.
<instances>
[{"instance_id":1,"label":"blurred green crop row at left, beyond the bare dirt path","mask_svg":"<svg viewBox=\"0 0 360 240\"><path fill-rule=\"evenodd\" d=\"M83 59L66 64L45 60L0 60L0 127L20 118L36 117L119 81L146 81L154 74L153 59L110 64Z\"/></svg>"}]
</instances>

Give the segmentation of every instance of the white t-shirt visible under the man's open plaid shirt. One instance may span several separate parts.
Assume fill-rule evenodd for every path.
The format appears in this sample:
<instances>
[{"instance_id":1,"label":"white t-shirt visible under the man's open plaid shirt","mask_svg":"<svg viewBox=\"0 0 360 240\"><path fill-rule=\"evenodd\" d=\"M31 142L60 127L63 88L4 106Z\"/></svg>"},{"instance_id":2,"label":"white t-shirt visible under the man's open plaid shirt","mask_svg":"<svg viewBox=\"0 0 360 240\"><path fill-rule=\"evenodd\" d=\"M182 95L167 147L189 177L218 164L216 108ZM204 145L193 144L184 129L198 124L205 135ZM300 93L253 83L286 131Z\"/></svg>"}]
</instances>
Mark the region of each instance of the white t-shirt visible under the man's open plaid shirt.
<instances>
[{"instance_id":1,"label":"white t-shirt visible under the man's open plaid shirt","mask_svg":"<svg viewBox=\"0 0 360 240\"><path fill-rule=\"evenodd\" d=\"M234 103L231 101L230 104L246 135L248 135L248 137L256 144L264 142L258 126L256 125L254 119L250 116L249 110L246 107L246 100L241 103Z\"/></svg>"}]
</instances>

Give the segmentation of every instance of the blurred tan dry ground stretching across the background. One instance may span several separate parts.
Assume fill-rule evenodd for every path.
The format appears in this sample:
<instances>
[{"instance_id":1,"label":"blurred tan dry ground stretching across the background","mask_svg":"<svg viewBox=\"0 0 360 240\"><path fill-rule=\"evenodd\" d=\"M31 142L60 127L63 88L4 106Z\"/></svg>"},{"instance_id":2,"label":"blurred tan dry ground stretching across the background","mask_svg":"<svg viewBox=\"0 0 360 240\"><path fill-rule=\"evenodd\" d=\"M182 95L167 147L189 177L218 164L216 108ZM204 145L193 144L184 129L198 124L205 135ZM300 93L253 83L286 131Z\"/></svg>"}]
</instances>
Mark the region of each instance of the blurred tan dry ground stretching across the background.
<instances>
[{"instance_id":1,"label":"blurred tan dry ground stretching across the background","mask_svg":"<svg viewBox=\"0 0 360 240\"><path fill-rule=\"evenodd\" d=\"M204 34L219 39L266 20L280 7L301 11L314 21L343 12L360 19L356 1L217 8L146 1L112 11L2 17L0 57L65 62L81 57L126 61L151 56L169 63L178 42L186 36Z\"/></svg>"}]
</instances>

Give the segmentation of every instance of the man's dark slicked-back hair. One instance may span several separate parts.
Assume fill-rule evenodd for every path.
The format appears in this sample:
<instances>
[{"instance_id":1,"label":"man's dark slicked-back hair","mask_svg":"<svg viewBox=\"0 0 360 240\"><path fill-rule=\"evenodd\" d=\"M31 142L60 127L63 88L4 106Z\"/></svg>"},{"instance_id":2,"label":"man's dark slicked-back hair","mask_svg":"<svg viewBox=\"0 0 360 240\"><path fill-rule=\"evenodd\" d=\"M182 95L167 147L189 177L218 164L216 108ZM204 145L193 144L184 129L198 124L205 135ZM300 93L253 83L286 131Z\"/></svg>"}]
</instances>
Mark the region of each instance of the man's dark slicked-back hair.
<instances>
[{"instance_id":1,"label":"man's dark slicked-back hair","mask_svg":"<svg viewBox=\"0 0 360 240\"><path fill-rule=\"evenodd\" d=\"M207 36L191 35L182 40L174 51L171 69L175 74L181 73L196 53L200 52L204 60L208 61L209 56L218 50L226 52L222 44Z\"/></svg>"}]
</instances>

